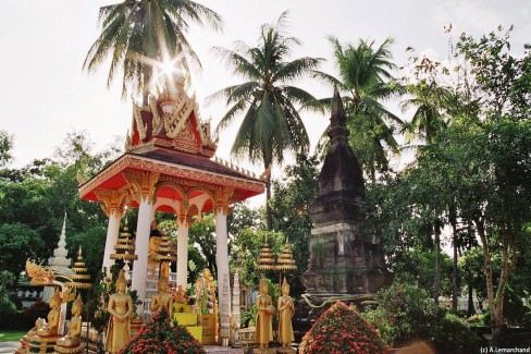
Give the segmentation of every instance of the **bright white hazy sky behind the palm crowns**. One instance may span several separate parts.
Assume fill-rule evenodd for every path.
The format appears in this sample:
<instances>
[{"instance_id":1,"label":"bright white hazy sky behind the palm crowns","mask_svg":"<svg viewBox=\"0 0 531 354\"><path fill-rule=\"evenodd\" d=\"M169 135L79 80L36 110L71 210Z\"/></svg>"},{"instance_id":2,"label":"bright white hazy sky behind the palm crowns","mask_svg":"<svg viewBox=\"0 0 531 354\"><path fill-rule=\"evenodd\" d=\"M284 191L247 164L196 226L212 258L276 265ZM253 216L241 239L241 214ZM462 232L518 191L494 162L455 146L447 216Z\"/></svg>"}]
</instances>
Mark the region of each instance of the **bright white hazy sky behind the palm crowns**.
<instances>
[{"instance_id":1,"label":"bright white hazy sky behind the palm crowns","mask_svg":"<svg viewBox=\"0 0 531 354\"><path fill-rule=\"evenodd\" d=\"M0 12L0 130L14 136L14 161L23 167L34 159L51 157L69 132L84 132L95 150L104 149L123 138L131 126L132 101L122 99L120 77L107 87L108 65L97 73L83 70L84 59L100 28L98 9L116 1L101 0L2 0ZM208 95L240 82L210 51L213 46L234 48L235 40L258 44L260 26L275 23L288 10L289 35L302 45L292 59L324 58L321 70L336 74L328 36L342 42L374 39L380 45L393 37L394 60L407 63L405 49L415 47L439 59L447 56L445 25L452 23L454 36L461 32L481 35L498 25L514 24L514 49L530 42L531 1L526 0L198 0L219 12L224 30L194 27L189 41L203 70L193 73L192 84L198 98L200 115L211 120L212 129L226 110L222 102L205 106ZM332 91L319 83L305 82L316 97ZM396 106L396 105L395 105ZM397 107L390 109L399 112ZM403 117L408 119L408 117ZM314 145L328 124L328 117L304 114ZM230 160L234 131L220 135L218 156ZM261 167L247 166L261 172Z\"/></svg>"}]
</instances>

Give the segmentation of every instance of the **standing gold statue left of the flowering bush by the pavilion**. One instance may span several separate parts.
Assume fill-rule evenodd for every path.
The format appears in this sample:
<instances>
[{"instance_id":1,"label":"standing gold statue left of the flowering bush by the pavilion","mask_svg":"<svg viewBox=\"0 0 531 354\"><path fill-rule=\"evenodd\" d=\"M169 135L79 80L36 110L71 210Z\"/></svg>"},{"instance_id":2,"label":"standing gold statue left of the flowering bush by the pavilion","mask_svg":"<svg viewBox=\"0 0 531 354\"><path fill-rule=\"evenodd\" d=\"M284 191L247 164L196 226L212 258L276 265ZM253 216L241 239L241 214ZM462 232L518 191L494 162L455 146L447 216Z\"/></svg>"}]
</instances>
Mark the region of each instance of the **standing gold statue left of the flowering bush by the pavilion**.
<instances>
[{"instance_id":1,"label":"standing gold statue left of the flowering bush by the pavilion","mask_svg":"<svg viewBox=\"0 0 531 354\"><path fill-rule=\"evenodd\" d=\"M107 310L111 314L107 328L106 350L118 353L131 337L131 317L133 316L133 300L125 293L127 281L123 269L116 280L116 293L109 297Z\"/></svg>"}]
</instances>

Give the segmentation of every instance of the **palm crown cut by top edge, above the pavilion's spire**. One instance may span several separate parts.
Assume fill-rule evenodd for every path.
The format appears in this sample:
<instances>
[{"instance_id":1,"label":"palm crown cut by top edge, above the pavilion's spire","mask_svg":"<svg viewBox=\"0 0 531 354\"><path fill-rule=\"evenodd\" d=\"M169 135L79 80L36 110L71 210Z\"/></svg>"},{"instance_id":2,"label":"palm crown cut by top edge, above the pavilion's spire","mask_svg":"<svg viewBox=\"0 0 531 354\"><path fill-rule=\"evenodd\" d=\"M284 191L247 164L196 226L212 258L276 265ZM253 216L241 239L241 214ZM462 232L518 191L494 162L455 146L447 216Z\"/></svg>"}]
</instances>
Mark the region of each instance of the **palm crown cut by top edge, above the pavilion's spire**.
<instances>
[{"instance_id":1,"label":"palm crown cut by top edge, above the pavilion's spire","mask_svg":"<svg viewBox=\"0 0 531 354\"><path fill-rule=\"evenodd\" d=\"M188 70L188 62L200 62L186 39L189 23L221 29L221 16L214 11L189 0L125 0L102 7L99 12L102 30L90 47L84 69L95 71L111 56L107 84L116 69L123 69L122 95L129 89L147 100L153 72L164 61L178 57Z\"/></svg>"}]
</instances>

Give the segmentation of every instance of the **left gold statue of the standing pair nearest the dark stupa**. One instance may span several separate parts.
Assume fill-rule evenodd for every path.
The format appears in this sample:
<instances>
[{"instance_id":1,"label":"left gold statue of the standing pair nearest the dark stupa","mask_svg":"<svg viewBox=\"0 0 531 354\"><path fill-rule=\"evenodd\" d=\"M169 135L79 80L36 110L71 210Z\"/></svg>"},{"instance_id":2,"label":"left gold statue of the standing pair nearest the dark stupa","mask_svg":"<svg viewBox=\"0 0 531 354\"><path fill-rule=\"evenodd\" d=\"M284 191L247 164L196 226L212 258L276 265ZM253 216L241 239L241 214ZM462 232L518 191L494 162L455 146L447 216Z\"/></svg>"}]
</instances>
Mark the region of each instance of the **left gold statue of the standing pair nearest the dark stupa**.
<instances>
[{"instance_id":1,"label":"left gold statue of the standing pair nearest the dark stupa","mask_svg":"<svg viewBox=\"0 0 531 354\"><path fill-rule=\"evenodd\" d=\"M260 295L257 296L257 343L260 349L269 347L273 340L273 300L268 295L269 283L266 278L260 279Z\"/></svg>"}]
</instances>

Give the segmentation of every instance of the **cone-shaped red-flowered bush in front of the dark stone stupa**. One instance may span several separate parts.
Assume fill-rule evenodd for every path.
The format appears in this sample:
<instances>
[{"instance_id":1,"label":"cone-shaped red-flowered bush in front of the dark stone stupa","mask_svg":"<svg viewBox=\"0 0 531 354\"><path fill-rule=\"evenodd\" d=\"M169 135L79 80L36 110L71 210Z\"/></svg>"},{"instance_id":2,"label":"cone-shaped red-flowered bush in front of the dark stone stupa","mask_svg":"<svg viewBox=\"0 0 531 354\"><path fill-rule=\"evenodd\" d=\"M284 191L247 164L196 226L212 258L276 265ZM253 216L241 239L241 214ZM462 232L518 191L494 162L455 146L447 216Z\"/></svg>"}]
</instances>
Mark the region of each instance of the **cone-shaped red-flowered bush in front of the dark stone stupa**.
<instances>
[{"instance_id":1,"label":"cone-shaped red-flowered bush in front of the dark stone stupa","mask_svg":"<svg viewBox=\"0 0 531 354\"><path fill-rule=\"evenodd\" d=\"M391 353L374 328L353 307L336 302L302 338L301 354Z\"/></svg>"}]
</instances>

